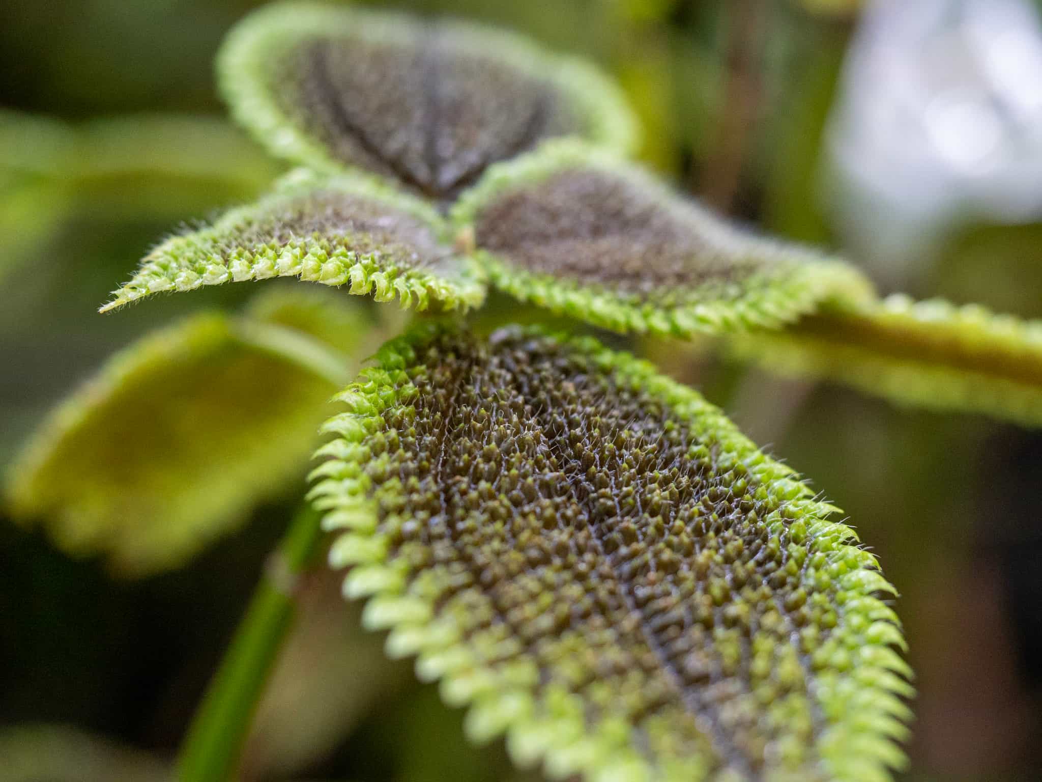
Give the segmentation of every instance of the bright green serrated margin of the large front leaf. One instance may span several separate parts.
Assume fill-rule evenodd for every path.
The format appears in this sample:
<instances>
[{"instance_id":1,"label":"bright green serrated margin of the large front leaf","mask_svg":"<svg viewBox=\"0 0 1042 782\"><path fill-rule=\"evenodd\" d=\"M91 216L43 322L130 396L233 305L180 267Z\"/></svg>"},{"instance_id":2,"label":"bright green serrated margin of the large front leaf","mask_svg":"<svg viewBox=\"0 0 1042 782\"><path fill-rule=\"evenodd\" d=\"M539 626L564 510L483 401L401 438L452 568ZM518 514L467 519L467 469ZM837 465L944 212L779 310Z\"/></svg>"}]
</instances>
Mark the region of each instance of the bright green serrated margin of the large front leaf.
<instances>
[{"instance_id":1,"label":"bright green serrated margin of the large front leaf","mask_svg":"<svg viewBox=\"0 0 1042 782\"><path fill-rule=\"evenodd\" d=\"M338 533L330 565L353 565L344 582L345 596L368 597L364 622L370 629L391 630L388 654L416 656L421 679L440 679L446 703L469 707L468 734L477 740L505 734L507 750L519 765L543 758L545 771L553 778L578 773L595 782L690 782L688 759L675 767L652 768L629 746L625 725L605 719L592 733L587 731L581 714L569 708L569 693L547 692L537 704L526 684L532 681L532 671L525 669L524 661L505 671L481 668L466 647L456 644L457 631L449 618L431 621L431 607L405 593L407 572L402 566L383 562L390 541L376 532L376 504L368 495L371 484L364 470L370 458L366 439L383 425L386 411L407 407L418 393L406 368L415 362L419 346L448 327L420 323L387 343L374 357L375 366L338 395L347 412L330 418L323 429L336 437L316 454L326 461L309 476L308 498L323 512L325 529ZM539 327L525 333L545 335ZM820 739L820 754L832 778L890 779L888 768L904 763L898 742L907 737L904 724L911 717L902 699L913 692L912 671L895 651L904 649L900 622L878 596L895 590L879 573L875 557L857 544L851 528L828 520L835 507L820 502L791 468L765 456L697 392L660 375L649 363L609 350L592 338L555 338L593 356L620 384L648 389L683 417L696 436L715 438L721 460L744 462L764 490L782 504L768 518L772 529L786 524L787 519L802 518L819 549L835 546L825 556L850 592L838 609L844 615L849 611L855 621L847 628L850 637L844 644L838 640L834 644L835 660L830 660L846 677L838 670L832 676L819 674L811 692L832 718ZM804 587L814 590L813 583ZM826 654L822 649L817 653ZM554 705L555 701L560 703ZM548 714L555 716L548 718Z\"/></svg>"}]
</instances>

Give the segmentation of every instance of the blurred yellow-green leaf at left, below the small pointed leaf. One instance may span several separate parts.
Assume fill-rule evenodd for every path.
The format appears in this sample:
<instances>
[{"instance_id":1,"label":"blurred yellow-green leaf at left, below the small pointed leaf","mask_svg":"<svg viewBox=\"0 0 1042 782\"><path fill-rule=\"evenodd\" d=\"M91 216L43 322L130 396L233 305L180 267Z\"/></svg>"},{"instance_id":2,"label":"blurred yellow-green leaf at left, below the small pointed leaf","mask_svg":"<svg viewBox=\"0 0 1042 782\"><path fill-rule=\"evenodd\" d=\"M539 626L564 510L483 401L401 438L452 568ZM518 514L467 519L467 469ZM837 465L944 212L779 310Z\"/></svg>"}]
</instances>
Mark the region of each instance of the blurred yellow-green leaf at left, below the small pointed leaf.
<instances>
[{"instance_id":1,"label":"blurred yellow-green leaf at left, below the small pointed leaf","mask_svg":"<svg viewBox=\"0 0 1042 782\"><path fill-rule=\"evenodd\" d=\"M347 302L312 299L326 310L321 319L351 324L336 346L206 313L117 353L16 460L11 515L124 576L176 567L233 530L303 473L324 404L355 363L346 351L365 351L371 336ZM291 306L269 297L253 310L286 317Z\"/></svg>"}]
</instances>

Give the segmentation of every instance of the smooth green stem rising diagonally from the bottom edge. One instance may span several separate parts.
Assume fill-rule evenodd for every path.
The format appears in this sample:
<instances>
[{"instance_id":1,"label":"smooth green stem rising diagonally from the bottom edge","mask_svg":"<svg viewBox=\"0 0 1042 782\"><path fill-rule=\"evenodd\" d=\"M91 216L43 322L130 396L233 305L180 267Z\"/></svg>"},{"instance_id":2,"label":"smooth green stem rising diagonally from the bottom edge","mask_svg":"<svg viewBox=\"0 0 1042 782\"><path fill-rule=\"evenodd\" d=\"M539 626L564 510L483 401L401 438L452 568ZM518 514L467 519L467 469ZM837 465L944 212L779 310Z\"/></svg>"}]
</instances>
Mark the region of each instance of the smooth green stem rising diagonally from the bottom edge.
<instances>
[{"instance_id":1,"label":"smooth green stem rising diagonally from the bottom edge","mask_svg":"<svg viewBox=\"0 0 1042 782\"><path fill-rule=\"evenodd\" d=\"M273 554L181 744L181 782L233 778L268 675L293 622L295 581L319 548L319 520L309 506L302 508Z\"/></svg>"}]
</instances>

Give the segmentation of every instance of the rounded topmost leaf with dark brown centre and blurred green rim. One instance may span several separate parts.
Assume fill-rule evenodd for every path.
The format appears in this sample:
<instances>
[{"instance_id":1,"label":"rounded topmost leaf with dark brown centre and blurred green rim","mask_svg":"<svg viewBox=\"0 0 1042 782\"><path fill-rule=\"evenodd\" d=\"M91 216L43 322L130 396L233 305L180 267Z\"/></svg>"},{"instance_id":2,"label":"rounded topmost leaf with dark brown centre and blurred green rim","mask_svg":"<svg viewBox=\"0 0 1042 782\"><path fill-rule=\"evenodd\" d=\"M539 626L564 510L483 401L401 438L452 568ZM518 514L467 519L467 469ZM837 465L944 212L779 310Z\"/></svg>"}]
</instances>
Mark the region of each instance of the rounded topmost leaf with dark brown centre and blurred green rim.
<instances>
[{"instance_id":1,"label":"rounded topmost leaf with dark brown centre and blurred green rim","mask_svg":"<svg viewBox=\"0 0 1042 782\"><path fill-rule=\"evenodd\" d=\"M218 73L274 154L440 200L544 139L627 151L635 138L617 88L591 67L458 22L280 3L234 28Z\"/></svg>"}]
</instances>

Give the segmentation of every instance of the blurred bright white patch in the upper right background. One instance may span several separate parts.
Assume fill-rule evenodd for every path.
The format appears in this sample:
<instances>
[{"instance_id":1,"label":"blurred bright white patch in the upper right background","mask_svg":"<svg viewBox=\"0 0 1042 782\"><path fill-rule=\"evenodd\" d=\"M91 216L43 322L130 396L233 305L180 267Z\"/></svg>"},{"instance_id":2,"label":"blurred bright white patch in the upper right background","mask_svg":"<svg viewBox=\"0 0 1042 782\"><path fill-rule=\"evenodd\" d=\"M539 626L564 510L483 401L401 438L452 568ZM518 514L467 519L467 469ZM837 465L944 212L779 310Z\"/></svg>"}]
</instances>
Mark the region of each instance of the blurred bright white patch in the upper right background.
<instances>
[{"instance_id":1,"label":"blurred bright white patch in the upper right background","mask_svg":"<svg viewBox=\"0 0 1042 782\"><path fill-rule=\"evenodd\" d=\"M899 287L970 221L1042 217L1042 20L1028 0L873 0L829 120L828 207Z\"/></svg>"}]
</instances>

